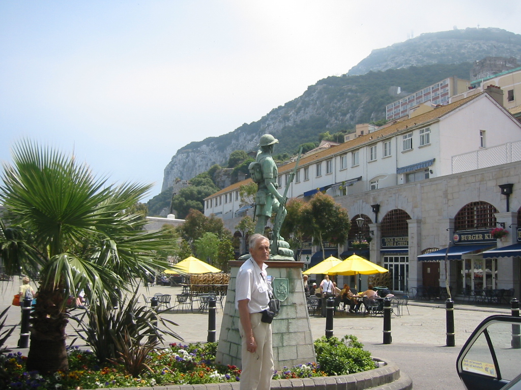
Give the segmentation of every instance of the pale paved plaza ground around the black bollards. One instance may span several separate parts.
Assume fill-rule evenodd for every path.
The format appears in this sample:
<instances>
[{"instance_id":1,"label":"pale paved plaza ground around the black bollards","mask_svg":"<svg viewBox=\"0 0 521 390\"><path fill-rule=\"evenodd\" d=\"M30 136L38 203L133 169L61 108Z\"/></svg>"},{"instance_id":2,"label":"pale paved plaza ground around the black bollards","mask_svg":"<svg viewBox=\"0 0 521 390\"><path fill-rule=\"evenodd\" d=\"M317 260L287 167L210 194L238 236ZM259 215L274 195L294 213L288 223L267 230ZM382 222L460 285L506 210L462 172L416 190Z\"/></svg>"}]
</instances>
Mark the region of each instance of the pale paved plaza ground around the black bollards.
<instances>
[{"instance_id":1,"label":"pale paved plaza ground around the black bollards","mask_svg":"<svg viewBox=\"0 0 521 390\"><path fill-rule=\"evenodd\" d=\"M0 309L11 305L13 294L18 291L19 282L1 282L2 300ZM33 285L34 287L34 285ZM181 293L179 287L163 287L154 285L148 291L140 290L140 301L143 296L152 296L154 293L172 295L172 304L176 294ZM196 308L197 306L195 306ZM410 315L402 317L392 316L392 344L383 345L383 319L381 317L355 316L337 313L334 318L333 334L342 337L345 334L353 334L358 337L365 348L383 360L392 360L400 366L400 369L413 379L415 389L463 389L463 385L457 377L455 361L462 345L470 333L485 318L495 314L510 315L510 309L502 307L477 307L475 305L455 305L455 347L445 347L445 309L444 303L436 302L411 302L409 303ZM205 342L207 340L208 314L199 313L173 313L165 312L163 316L178 324L173 327L185 343ZM73 313L80 313L74 310ZM217 303L217 335L219 339L222 310ZM311 330L314 339L325 334L326 319L319 316L311 316ZM11 306L8 312L8 326L17 326L20 322L20 308ZM67 332L73 336L75 329L71 321ZM7 342L10 348L16 349L19 338L19 327L11 335ZM70 342L74 337L69 337ZM178 340L167 338L167 342ZM80 340L76 345L82 345ZM27 350L22 350L27 354Z\"/></svg>"}]
</instances>

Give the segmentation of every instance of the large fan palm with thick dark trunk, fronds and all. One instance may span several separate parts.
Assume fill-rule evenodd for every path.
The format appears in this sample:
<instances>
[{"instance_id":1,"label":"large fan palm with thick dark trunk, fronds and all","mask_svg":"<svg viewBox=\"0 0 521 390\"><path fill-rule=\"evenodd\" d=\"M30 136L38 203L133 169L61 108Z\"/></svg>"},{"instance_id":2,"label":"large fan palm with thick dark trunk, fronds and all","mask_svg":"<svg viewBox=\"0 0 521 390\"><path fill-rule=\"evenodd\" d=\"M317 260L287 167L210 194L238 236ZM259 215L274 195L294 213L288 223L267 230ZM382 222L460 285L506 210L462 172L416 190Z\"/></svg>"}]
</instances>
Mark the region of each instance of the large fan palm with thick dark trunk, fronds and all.
<instances>
[{"instance_id":1,"label":"large fan palm with thick dark trunk, fronds and all","mask_svg":"<svg viewBox=\"0 0 521 390\"><path fill-rule=\"evenodd\" d=\"M31 318L28 370L68 370L66 303L84 289L103 304L115 289L130 291L158 266L157 250L171 248L163 231L146 232L128 213L151 186L108 185L89 167L52 148L23 140L4 164L0 257L11 275L40 272Z\"/></svg>"}]
</instances>

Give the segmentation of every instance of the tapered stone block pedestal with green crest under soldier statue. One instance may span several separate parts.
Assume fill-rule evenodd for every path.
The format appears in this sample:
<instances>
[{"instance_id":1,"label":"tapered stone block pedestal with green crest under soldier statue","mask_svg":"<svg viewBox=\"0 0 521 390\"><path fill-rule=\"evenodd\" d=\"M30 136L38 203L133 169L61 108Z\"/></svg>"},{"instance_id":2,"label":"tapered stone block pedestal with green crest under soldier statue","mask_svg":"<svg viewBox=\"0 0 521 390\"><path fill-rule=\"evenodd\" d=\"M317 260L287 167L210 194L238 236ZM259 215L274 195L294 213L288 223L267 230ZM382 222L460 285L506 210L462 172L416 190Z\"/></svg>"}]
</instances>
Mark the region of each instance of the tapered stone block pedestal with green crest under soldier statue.
<instances>
[{"instance_id":1,"label":"tapered stone block pedestal with green crest under soldier statue","mask_svg":"<svg viewBox=\"0 0 521 390\"><path fill-rule=\"evenodd\" d=\"M230 282L222 316L215 361L241 367L239 311L235 309L235 279L243 261L231 261ZM280 303L279 315L271 323L275 369L316 361L311 324L302 280L302 262L267 261L268 278L289 281L288 298Z\"/></svg>"}]
</instances>

